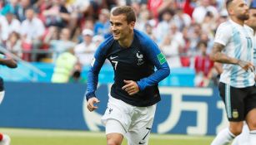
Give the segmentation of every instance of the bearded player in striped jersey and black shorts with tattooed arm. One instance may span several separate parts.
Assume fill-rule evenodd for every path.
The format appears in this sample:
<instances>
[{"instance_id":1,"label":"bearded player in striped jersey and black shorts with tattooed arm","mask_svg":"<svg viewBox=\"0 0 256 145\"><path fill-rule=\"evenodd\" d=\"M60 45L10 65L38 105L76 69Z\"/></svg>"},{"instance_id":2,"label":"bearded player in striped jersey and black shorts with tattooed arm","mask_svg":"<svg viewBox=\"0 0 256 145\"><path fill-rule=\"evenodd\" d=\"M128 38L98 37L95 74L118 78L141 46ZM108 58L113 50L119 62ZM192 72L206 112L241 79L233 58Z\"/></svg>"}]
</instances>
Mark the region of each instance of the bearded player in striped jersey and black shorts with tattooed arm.
<instances>
[{"instance_id":1,"label":"bearded player in striped jersey and black shorts with tattooed arm","mask_svg":"<svg viewBox=\"0 0 256 145\"><path fill-rule=\"evenodd\" d=\"M219 25L215 35L211 59L223 63L219 94L226 106L229 127L214 138L212 145L226 145L243 129L243 120L250 130L248 144L256 144L256 59L253 29L244 25L248 20L248 6L243 0L226 2L228 22Z\"/></svg>"}]
</instances>

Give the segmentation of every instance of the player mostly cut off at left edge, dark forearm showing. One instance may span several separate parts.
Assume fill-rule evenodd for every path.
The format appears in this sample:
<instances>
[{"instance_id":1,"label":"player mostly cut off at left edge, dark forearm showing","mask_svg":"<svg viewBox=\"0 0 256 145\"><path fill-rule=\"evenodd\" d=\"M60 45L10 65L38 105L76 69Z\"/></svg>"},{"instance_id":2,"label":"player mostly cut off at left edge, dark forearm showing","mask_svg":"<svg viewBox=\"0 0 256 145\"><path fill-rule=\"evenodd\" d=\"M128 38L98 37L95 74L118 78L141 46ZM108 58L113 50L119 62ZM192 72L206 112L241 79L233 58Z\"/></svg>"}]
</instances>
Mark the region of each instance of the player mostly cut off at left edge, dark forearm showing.
<instances>
[{"instance_id":1,"label":"player mostly cut off at left edge, dark forearm showing","mask_svg":"<svg viewBox=\"0 0 256 145\"><path fill-rule=\"evenodd\" d=\"M7 58L6 56L0 54L0 65L6 65L9 68L16 68L17 63L12 58ZM4 86L3 79L0 77L0 104L3 101L4 97ZM9 145L11 142L11 138L7 134L0 133L0 145Z\"/></svg>"}]
</instances>

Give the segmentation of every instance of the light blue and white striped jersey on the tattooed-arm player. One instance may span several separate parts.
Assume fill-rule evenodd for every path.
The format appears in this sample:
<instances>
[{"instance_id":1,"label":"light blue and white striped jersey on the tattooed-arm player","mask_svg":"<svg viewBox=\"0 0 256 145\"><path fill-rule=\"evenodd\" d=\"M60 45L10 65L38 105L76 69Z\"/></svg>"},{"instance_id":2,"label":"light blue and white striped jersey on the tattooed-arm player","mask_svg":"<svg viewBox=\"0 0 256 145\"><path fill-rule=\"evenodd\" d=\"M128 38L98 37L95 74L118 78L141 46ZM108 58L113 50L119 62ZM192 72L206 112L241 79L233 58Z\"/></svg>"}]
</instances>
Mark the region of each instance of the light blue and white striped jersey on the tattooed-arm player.
<instances>
[{"instance_id":1,"label":"light blue and white striped jersey on the tattooed-arm player","mask_svg":"<svg viewBox=\"0 0 256 145\"><path fill-rule=\"evenodd\" d=\"M225 55L254 64L255 41L252 28L228 20L219 25L214 42L225 46L223 49ZM254 72L245 71L239 65L223 64L223 73L219 81L236 88L253 86L255 84Z\"/></svg>"}]
</instances>

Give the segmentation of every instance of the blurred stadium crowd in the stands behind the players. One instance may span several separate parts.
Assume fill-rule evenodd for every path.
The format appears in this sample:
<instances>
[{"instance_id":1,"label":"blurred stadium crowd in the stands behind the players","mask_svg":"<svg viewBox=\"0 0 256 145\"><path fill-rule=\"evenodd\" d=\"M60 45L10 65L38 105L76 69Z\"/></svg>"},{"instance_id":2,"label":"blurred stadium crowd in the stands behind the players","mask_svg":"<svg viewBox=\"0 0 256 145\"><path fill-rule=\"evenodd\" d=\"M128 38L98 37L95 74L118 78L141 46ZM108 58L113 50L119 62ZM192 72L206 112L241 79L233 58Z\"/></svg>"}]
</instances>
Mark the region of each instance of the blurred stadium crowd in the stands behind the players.
<instances>
[{"instance_id":1,"label":"blurred stadium crowd in the stands behind the players","mask_svg":"<svg viewBox=\"0 0 256 145\"><path fill-rule=\"evenodd\" d=\"M171 68L195 69L196 86L208 86L213 36L228 13L223 0L1 0L0 41L27 61L55 63L73 48L89 65L97 46L110 33L111 8L131 5L136 29L160 46Z\"/></svg>"}]
</instances>

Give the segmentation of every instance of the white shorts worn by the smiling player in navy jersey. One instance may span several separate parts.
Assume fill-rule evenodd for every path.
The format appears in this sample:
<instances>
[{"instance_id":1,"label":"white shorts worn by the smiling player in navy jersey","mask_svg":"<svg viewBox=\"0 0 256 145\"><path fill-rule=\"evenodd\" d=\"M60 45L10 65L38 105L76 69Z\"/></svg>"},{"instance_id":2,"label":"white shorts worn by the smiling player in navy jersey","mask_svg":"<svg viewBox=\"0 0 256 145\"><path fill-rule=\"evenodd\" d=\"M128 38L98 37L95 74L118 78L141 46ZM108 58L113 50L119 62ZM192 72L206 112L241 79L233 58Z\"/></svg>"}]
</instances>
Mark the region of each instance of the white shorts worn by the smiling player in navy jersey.
<instances>
[{"instance_id":1,"label":"white shorts worn by the smiling player in navy jersey","mask_svg":"<svg viewBox=\"0 0 256 145\"><path fill-rule=\"evenodd\" d=\"M108 96L108 108L102 118L106 134L121 133L128 145L148 145L157 105L137 107Z\"/></svg>"}]
</instances>

